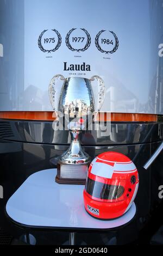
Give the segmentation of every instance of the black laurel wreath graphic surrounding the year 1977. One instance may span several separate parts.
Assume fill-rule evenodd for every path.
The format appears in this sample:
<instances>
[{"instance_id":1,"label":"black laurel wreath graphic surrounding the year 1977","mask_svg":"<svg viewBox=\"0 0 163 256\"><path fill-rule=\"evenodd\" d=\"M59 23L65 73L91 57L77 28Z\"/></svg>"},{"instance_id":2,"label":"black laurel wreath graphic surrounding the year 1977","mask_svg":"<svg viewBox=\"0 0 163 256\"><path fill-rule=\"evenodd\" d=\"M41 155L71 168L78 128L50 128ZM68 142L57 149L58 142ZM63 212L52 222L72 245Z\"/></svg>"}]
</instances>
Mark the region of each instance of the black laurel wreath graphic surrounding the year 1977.
<instances>
[{"instance_id":1,"label":"black laurel wreath graphic surrounding the year 1977","mask_svg":"<svg viewBox=\"0 0 163 256\"><path fill-rule=\"evenodd\" d=\"M73 52L74 52L74 51L77 51L77 52L84 52L84 51L87 50L87 48L90 47L90 44L91 44L91 36L90 36L90 34L86 31L85 28L80 28L80 29L82 29L82 31L85 32L86 37L87 37L87 41L86 41L86 44L85 44L84 48L75 49L75 48L73 48L73 47L71 46L70 40L69 40L71 33L72 33L75 29L77 29L77 28L72 28L72 29L67 33L66 39L65 39L66 45L67 45L68 49L70 49L70 50L73 51Z\"/></svg>"}]
</instances>

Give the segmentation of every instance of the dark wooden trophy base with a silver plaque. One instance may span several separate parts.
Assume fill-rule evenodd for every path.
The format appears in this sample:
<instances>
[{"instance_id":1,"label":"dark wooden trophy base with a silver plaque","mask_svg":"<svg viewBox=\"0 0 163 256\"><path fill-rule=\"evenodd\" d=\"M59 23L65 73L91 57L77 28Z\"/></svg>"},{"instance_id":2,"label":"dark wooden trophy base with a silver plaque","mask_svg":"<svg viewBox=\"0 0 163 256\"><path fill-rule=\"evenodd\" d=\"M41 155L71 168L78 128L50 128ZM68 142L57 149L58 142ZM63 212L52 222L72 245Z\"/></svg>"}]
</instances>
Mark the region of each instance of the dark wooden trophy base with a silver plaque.
<instances>
[{"instance_id":1,"label":"dark wooden trophy base with a silver plaque","mask_svg":"<svg viewBox=\"0 0 163 256\"><path fill-rule=\"evenodd\" d=\"M85 185L89 164L57 164L55 181L59 184Z\"/></svg>"}]
</instances>

